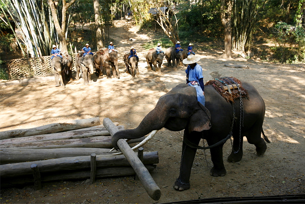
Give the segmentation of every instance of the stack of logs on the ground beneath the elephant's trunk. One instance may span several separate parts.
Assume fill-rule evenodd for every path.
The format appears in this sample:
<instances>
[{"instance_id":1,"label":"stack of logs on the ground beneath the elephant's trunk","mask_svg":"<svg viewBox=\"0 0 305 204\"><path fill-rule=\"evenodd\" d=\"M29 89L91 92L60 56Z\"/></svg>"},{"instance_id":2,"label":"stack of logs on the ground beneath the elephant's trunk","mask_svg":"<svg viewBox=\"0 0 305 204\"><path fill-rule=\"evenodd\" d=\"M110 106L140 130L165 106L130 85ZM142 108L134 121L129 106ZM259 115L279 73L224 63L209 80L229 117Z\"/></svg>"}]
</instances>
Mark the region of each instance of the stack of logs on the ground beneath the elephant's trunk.
<instances>
[{"instance_id":1,"label":"stack of logs on the ground beneath the elephant's trunk","mask_svg":"<svg viewBox=\"0 0 305 204\"><path fill-rule=\"evenodd\" d=\"M124 129L114 124L117 129ZM90 178L91 183L95 178L135 175L124 155L109 153L113 148L111 136L99 118L3 131L0 148L1 187L33 184L33 175L41 182ZM149 171L155 169L158 152L142 153L145 167ZM41 186L35 184L35 188Z\"/></svg>"}]
</instances>

